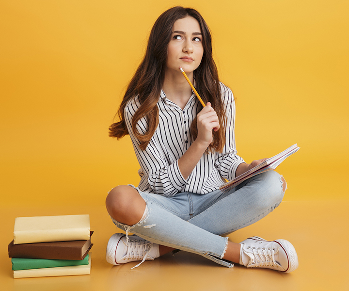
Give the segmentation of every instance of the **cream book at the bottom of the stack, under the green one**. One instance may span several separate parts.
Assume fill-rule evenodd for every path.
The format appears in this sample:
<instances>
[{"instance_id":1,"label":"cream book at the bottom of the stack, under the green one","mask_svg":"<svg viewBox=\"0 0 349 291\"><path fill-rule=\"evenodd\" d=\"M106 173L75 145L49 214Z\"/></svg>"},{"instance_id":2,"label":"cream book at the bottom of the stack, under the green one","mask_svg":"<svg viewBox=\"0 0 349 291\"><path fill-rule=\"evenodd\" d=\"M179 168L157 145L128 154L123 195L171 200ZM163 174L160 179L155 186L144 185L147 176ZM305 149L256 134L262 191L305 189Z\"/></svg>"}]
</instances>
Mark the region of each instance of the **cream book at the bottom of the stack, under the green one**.
<instances>
[{"instance_id":1,"label":"cream book at the bottom of the stack, under the green one","mask_svg":"<svg viewBox=\"0 0 349 291\"><path fill-rule=\"evenodd\" d=\"M89 253L88 265L18 270L18 271L14 271L14 278L90 275L90 273L91 273L91 253Z\"/></svg>"}]
</instances>

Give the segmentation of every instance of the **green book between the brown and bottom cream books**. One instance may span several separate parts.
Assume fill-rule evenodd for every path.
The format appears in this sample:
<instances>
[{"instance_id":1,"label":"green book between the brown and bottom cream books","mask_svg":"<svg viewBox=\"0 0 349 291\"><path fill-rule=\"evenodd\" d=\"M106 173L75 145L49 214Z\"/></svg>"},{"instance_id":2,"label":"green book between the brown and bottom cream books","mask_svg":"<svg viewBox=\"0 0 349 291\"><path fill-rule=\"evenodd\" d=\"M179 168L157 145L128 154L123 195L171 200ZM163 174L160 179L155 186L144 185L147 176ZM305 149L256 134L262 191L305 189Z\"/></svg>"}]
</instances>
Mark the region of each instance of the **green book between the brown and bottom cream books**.
<instances>
[{"instance_id":1,"label":"green book between the brown and bottom cream books","mask_svg":"<svg viewBox=\"0 0 349 291\"><path fill-rule=\"evenodd\" d=\"M72 259L22 259L12 258L12 270L29 270L29 269L42 269L42 268L54 268L64 266L77 266L88 265L89 255L85 259L72 260Z\"/></svg>"}]
</instances>

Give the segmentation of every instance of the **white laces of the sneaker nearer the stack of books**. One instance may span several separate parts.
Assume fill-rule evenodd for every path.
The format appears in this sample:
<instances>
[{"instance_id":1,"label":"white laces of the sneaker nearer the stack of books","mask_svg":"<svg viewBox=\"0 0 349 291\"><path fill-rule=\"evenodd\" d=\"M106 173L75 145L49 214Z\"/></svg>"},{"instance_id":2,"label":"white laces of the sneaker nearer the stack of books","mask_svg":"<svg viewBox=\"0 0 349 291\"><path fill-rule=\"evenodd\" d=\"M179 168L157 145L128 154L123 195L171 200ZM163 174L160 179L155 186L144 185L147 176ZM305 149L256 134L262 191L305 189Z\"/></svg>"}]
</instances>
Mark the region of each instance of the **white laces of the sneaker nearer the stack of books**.
<instances>
[{"instance_id":1,"label":"white laces of the sneaker nearer the stack of books","mask_svg":"<svg viewBox=\"0 0 349 291\"><path fill-rule=\"evenodd\" d=\"M127 245L127 254L125 256L125 259L132 259L132 260L141 260L142 261L134 266L132 269L139 267L146 259L148 260L154 260L150 255L150 246L152 242L148 242L146 240L128 240L128 242L125 243Z\"/></svg>"}]
</instances>

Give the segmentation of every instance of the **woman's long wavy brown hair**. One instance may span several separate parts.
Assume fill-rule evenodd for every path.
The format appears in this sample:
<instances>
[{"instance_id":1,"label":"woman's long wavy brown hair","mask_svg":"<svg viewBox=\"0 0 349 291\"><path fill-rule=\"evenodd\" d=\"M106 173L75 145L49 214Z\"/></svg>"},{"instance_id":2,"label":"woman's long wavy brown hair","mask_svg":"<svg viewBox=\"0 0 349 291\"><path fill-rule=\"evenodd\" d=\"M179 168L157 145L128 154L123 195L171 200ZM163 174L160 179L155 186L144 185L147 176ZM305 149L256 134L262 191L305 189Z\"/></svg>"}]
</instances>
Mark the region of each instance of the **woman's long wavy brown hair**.
<instances>
[{"instance_id":1,"label":"woman's long wavy brown hair","mask_svg":"<svg viewBox=\"0 0 349 291\"><path fill-rule=\"evenodd\" d=\"M209 28L204 18L192 8L176 6L162 13L156 20L149 36L149 41L145 56L141 65L139 65L132 80L128 84L124 99L122 100L118 113L120 121L113 123L109 127L109 136L122 138L128 134L124 109L128 101L138 95L141 106L132 118L132 131L140 141L140 147L144 150L155 130L159 125L159 108L157 103L164 81L167 46L171 40L174 22L178 19L191 16L195 18L200 25L203 36L204 55L199 67L194 71L196 81L196 90L205 103L211 102L216 111L221 128L213 132L213 141L208 147L209 150L222 152L225 144L225 126L226 117L221 97L221 85L218 78L217 66L212 57L212 38ZM200 108L200 107L199 107ZM200 108L200 110L202 107ZM148 120L148 129L145 134L137 130L137 122L146 117ZM197 137L197 120L191 124L192 139Z\"/></svg>"}]
</instances>

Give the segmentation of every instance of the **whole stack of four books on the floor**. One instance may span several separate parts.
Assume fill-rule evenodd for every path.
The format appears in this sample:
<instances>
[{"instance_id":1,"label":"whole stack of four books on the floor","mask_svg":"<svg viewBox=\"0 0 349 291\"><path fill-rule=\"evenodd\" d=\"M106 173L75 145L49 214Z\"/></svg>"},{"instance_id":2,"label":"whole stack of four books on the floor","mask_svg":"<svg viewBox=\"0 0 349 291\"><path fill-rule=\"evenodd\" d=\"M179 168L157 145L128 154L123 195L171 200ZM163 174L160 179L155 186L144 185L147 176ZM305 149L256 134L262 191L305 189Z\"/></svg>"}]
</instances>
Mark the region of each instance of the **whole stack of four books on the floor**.
<instances>
[{"instance_id":1,"label":"whole stack of four books on the floor","mask_svg":"<svg viewBox=\"0 0 349 291\"><path fill-rule=\"evenodd\" d=\"M90 216L17 217L10 242L14 278L89 275Z\"/></svg>"}]
</instances>

